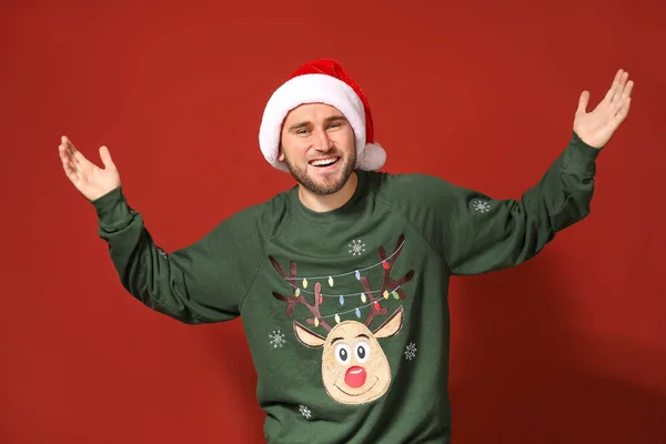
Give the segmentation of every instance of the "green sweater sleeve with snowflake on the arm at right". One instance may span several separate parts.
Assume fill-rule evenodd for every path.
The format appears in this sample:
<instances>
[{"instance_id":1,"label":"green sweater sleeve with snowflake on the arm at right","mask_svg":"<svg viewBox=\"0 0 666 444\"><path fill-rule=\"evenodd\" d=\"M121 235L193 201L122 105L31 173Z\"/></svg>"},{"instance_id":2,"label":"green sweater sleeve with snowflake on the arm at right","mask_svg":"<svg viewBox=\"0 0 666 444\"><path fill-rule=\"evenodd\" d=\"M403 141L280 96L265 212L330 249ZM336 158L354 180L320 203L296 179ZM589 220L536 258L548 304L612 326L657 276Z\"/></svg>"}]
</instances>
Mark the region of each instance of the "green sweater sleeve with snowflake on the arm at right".
<instances>
[{"instance_id":1,"label":"green sweater sleeve with snowflake on the arm at right","mask_svg":"<svg viewBox=\"0 0 666 444\"><path fill-rule=\"evenodd\" d=\"M574 132L539 182L519 200L447 185L440 216L443 256L451 273L480 274L518 265L558 231L587 216L599 151Z\"/></svg>"}]
</instances>

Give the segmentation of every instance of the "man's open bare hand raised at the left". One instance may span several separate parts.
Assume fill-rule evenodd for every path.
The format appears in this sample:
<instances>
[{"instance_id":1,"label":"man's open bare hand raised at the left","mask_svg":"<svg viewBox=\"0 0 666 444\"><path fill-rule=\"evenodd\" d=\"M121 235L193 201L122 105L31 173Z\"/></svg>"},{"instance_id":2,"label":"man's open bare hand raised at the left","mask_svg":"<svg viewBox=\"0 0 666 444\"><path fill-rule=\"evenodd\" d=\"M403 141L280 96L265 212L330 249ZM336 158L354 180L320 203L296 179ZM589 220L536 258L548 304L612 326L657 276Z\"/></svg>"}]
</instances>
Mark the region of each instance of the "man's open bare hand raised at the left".
<instances>
[{"instance_id":1,"label":"man's open bare hand raised at the left","mask_svg":"<svg viewBox=\"0 0 666 444\"><path fill-rule=\"evenodd\" d=\"M89 201L94 201L120 186L120 174L107 147L100 148L103 169L85 159L65 135L62 137L58 151L68 179Z\"/></svg>"}]
</instances>

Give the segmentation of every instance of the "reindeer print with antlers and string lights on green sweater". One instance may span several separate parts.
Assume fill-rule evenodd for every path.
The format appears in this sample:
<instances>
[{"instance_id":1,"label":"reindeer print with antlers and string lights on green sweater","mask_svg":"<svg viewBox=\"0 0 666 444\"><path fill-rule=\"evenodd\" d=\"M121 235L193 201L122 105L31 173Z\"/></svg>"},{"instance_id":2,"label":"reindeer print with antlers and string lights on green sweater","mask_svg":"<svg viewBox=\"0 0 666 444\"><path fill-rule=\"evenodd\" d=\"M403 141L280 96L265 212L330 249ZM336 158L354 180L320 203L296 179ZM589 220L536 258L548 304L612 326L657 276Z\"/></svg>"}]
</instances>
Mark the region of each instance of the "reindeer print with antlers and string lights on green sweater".
<instances>
[{"instance_id":1,"label":"reindeer print with antlers and string lights on green sweater","mask_svg":"<svg viewBox=\"0 0 666 444\"><path fill-rule=\"evenodd\" d=\"M322 382L327 395L341 404L364 404L383 396L391 385L391 366L389 360L382 350L380 340L396 335L403 325L403 307L397 310L386 319L379 327L371 330L371 324L375 316L385 316L389 314L387 307L382 307L380 302L393 294L395 299L405 300L406 295L401 289L403 284L411 281L414 276L414 270L411 270L402 279L394 280L391 276L391 268L404 244L404 236L401 235L395 251L386 255L383 248L379 248L380 262L370 265L364 270L381 266L383 279L381 287L372 289L366 275L359 271L351 274L355 278L363 290L363 303L350 310L361 317L361 309L366 312L365 321L345 320L341 322L336 313L334 326L331 326L327 319L332 315L322 315L322 303L326 294L322 292L322 283L314 282L311 290L307 289L306 279L299 276L296 264L292 261L290 274L285 273L274 258L270 258L275 270L291 283L293 294L285 296L273 292L273 296L280 301L287 302L286 314L292 316L294 307L297 304L305 305L312 313L312 317L305 320L311 326L305 326L297 321L293 321L294 334L301 344L322 349ZM339 276L344 276L339 275ZM304 282L303 289L296 283ZM340 296L341 299L344 296ZM310 301L313 301L312 303ZM325 335L320 334L316 329L325 330Z\"/></svg>"}]
</instances>

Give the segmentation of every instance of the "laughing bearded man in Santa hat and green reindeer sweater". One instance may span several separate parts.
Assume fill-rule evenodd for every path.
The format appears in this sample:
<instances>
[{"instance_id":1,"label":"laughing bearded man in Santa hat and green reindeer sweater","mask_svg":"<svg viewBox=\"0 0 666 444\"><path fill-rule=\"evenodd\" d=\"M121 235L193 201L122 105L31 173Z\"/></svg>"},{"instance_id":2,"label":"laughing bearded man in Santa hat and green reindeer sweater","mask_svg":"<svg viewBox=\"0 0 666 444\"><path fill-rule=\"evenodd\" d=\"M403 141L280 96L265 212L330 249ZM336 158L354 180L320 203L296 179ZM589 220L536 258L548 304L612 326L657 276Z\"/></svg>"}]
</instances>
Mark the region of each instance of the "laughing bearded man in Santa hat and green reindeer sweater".
<instances>
[{"instance_id":1,"label":"laughing bearded man in Santa hat and green reindeer sweater","mask_svg":"<svg viewBox=\"0 0 666 444\"><path fill-rule=\"evenodd\" d=\"M625 120L617 71L599 105L581 94L573 134L519 200L438 178L377 172L369 102L333 60L301 67L269 100L260 148L297 186L193 245L158 248L104 168L67 139L64 172L94 205L128 291L190 324L241 316L269 443L445 443L448 282L518 265L589 212L595 159Z\"/></svg>"}]
</instances>

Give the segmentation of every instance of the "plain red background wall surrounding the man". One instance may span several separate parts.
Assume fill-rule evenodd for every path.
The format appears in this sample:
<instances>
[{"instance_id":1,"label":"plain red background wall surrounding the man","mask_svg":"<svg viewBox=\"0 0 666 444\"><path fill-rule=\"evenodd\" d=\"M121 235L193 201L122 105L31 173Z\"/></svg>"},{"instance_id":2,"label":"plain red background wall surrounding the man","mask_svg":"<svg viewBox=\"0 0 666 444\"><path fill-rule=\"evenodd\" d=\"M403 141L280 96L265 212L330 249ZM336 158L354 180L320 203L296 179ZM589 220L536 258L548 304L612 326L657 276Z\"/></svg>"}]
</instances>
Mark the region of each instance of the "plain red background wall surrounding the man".
<instances>
[{"instance_id":1,"label":"plain red background wall surrounding the man","mask_svg":"<svg viewBox=\"0 0 666 444\"><path fill-rule=\"evenodd\" d=\"M263 105L333 57L371 100L385 171L500 198L559 154L582 90L596 105L629 71L592 215L453 282L454 441L665 443L665 4L4 1L0 442L262 441L241 323L133 301L58 143L95 162L107 144L155 240L184 246L292 185L259 151Z\"/></svg>"}]
</instances>

